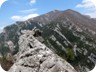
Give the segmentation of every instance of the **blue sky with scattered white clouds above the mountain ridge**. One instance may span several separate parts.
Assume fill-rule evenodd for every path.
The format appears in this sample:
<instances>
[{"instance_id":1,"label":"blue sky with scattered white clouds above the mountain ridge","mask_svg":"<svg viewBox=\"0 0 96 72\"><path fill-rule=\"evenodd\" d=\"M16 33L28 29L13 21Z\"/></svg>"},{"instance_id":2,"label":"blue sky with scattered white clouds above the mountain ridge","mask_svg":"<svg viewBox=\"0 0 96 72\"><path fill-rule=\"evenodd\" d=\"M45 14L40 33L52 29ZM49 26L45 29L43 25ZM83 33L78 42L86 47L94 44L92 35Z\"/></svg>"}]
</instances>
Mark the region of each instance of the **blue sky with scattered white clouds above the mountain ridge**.
<instances>
[{"instance_id":1,"label":"blue sky with scattered white clouds above the mountain ridge","mask_svg":"<svg viewBox=\"0 0 96 72\"><path fill-rule=\"evenodd\" d=\"M0 30L15 21L24 21L55 9L73 9L96 17L96 0L0 0Z\"/></svg>"}]
</instances>

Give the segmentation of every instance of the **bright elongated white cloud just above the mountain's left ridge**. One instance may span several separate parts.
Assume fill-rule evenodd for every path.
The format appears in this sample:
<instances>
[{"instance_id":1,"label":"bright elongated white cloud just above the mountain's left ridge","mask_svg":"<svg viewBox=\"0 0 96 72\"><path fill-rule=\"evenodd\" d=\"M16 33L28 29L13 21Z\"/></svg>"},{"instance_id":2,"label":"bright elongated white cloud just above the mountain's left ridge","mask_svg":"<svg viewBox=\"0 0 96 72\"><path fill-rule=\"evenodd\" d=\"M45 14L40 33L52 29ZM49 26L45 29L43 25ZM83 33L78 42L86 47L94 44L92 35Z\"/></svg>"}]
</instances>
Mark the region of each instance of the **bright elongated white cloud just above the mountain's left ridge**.
<instances>
[{"instance_id":1,"label":"bright elongated white cloud just above the mountain's left ridge","mask_svg":"<svg viewBox=\"0 0 96 72\"><path fill-rule=\"evenodd\" d=\"M12 16L11 19L14 21L25 21L30 18L34 18L36 16L39 16L39 14L29 14L27 16Z\"/></svg>"}]
</instances>

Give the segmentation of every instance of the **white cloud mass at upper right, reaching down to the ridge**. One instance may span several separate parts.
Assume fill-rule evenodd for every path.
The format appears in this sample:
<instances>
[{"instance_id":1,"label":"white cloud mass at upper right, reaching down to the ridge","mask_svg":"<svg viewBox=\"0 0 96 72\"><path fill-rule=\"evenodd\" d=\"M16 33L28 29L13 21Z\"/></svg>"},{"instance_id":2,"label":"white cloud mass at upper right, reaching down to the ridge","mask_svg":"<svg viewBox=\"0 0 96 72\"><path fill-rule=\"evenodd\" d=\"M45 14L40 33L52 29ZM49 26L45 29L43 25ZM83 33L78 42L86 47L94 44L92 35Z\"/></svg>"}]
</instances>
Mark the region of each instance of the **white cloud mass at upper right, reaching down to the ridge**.
<instances>
[{"instance_id":1,"label":"white cloud mass at upper right, reaching down to the ridge","mask_svg":"<svg viewBox=\"0 0 96 72\"><path fill-rule=\"evenodd\" d=\"M82 3L77 4L76 8L82 8L86 11L84 14L96 18L96 0L82 0Z\"/></svg>"}]
</instances>

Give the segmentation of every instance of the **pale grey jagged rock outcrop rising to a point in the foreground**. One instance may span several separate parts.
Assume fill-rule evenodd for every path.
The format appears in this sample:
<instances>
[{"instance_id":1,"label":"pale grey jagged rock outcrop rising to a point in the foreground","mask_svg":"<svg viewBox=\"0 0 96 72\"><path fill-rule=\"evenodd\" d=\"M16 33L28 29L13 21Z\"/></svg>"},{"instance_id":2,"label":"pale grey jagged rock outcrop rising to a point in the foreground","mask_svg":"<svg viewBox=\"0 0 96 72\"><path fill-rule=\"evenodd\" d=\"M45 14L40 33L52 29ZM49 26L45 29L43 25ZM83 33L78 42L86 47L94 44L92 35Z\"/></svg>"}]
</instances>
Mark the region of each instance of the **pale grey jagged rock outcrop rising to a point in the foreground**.
<instances>
[{"instance_id":1,"label":"pale grey jagged rock outcrop rising to a point in the foreground","mask_svg":"<svg viewBox=\"0 0 96 72\"><path fill-rule=\"evenodd\" d=\"M16 62L8 72L76 72L64 59L39 42L33 31L22 31Z\"/></svg>"}]
</instances>

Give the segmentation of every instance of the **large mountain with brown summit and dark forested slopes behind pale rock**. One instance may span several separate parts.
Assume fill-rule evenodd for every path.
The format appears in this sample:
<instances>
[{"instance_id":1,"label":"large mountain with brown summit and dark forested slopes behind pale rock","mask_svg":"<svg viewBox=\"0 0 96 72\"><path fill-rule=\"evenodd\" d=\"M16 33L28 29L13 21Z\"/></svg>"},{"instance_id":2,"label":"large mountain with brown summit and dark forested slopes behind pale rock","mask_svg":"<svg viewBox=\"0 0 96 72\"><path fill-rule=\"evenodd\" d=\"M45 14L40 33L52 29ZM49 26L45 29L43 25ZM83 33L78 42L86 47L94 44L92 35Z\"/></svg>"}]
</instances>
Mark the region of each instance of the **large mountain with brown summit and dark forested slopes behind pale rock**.
<instances>
[{"instance_id":1,"label":"large mountain with brown summit and dark forested slopes behind pale rock","mask_svg":"<svg viewBox=\"0 0 96 72\"><path fill-rule=\"evenodd\" d=\"M54 10L5 27L0 34L1 54L4 57L9 53L17 54L21 30L34 27L41 30L43 43L67 60L77 72L93 69L96 63L96 20L70 9Z\"/></svg>"}]
</instances>

